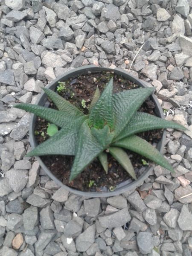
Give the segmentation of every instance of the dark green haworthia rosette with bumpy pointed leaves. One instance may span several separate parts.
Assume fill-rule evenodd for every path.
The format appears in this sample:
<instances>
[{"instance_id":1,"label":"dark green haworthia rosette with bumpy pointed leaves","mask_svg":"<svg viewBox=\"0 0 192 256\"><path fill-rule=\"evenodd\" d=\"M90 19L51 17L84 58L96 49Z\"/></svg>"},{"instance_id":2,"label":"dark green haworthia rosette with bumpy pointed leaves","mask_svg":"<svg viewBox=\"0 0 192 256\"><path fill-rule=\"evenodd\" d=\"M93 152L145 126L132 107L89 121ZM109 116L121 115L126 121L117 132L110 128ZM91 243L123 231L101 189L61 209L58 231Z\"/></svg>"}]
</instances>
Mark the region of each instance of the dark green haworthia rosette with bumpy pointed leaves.
<instances>
[{"instance_id":1,"label":"dark green haworthia rosette with bumpy pointed leaves","mask_svg":"<svg viewBox=\"0 0 192 256\"><path fill-rule=\"evenodd\" d=\"M99 88L96 89L89 114L84 115L57 93L44 88L44 92L58 110L24 103L17 104L15 108L34 113L61 129L30 151L28 156L75 155L70 181L96 157L104 171L108 173L108 154L111 154L129 175L136 179L131 160L123 148L147 157L174 172L168 160L154 146L135 135L162 128L186 130L183 125L137 111L153 91L154 89L149 87L113 93L113 79L111 79L101 95Z\"/></svg>"}]
</instances>

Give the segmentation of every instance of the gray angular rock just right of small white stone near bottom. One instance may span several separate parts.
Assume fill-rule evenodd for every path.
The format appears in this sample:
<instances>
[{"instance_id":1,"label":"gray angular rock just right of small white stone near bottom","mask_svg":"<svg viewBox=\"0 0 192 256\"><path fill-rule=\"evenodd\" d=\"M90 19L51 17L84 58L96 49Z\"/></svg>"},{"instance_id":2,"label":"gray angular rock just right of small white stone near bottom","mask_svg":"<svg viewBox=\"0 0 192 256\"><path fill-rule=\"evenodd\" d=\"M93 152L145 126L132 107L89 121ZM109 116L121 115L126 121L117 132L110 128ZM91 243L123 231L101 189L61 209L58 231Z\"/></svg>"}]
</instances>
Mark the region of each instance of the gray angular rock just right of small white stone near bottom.
<instances>
[{"instance_id":1,"label":"gray angular rock just right of small white stone near bottom","mask_svg":"<svg viewBox=\"0 0 192 256\"><path fill-rule=\"evenodd\" d=\"M76 248L79 252L85 252L95 241L95 224L88 227L76 239Z\"/></svg>"}]
</instances>

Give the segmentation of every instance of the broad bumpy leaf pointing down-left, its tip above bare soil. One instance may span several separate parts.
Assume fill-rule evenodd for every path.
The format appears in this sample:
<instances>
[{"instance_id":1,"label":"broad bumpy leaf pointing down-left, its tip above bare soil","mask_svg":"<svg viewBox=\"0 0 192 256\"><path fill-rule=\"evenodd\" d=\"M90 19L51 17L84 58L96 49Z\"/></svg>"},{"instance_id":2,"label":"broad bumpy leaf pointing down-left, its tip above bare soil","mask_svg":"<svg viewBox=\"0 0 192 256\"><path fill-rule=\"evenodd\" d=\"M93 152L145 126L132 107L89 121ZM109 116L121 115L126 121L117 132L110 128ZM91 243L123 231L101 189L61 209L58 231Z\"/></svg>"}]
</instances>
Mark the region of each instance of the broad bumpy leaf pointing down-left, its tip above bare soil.
<instances>
[{"instance_id":1,"label":"broad bumpy leaf pointing down-left, its tip above bare soil","mask_svg":"<svg viewBox=\"0 0 192 256\"><path fill-rule=\"evenodd\" d=\"M88 120L80 128L76 146L76 157L71 170L70 181L79 175L103 150L96 137L90 131Z\"/></svg>"}]
</instances>

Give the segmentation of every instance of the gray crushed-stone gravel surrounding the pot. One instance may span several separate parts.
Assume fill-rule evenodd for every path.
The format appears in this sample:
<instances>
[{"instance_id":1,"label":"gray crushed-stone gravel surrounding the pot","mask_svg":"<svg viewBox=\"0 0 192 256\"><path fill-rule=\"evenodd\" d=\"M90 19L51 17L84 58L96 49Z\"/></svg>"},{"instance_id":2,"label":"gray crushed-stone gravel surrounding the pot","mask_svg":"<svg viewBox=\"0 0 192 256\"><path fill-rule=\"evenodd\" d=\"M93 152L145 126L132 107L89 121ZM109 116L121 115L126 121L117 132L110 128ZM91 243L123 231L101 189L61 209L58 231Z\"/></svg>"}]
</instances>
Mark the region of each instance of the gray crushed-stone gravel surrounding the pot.
<instances>
[{"instance_id":1,"label":"gray crushed-stone gravel surrounding the pot","mask_svg":"<svg viewBox=\"0 0 192 256\"><path fill-rule=\"evenodd\" d=\"M190 12L191 0L0 0L0 256L191 256ZM167 131L175 174L156 166L136 191L79 198L24 157L29 114L14 103L87 64L130 69L189 125Z\"/></svg>"}]
</instances>

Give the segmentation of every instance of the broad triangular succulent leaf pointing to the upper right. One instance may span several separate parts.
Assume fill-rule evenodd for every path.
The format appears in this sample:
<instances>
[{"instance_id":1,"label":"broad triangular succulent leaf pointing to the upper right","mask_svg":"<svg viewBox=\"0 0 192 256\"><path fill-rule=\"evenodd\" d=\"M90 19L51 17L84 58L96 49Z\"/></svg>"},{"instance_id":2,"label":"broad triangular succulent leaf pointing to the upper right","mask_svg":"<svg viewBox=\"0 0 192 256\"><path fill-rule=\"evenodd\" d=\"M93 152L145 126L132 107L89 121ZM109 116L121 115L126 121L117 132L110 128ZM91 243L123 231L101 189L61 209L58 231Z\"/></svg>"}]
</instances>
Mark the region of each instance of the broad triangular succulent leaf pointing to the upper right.
<instances>
[{"instance_id":1,"label":"broad triangular succulent leaf pointing to the upper right","mask_svg":"<svg viewBox=\"0 0 192 256\"><path fill-rule=\"evenodd\" d=\"M154 88L138 88L113 94L113 111L115 114L115 135L125 128L134 113L140 108Z\"/></svg>"}]
</instances>

